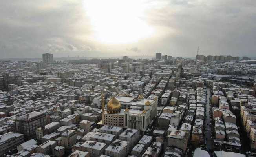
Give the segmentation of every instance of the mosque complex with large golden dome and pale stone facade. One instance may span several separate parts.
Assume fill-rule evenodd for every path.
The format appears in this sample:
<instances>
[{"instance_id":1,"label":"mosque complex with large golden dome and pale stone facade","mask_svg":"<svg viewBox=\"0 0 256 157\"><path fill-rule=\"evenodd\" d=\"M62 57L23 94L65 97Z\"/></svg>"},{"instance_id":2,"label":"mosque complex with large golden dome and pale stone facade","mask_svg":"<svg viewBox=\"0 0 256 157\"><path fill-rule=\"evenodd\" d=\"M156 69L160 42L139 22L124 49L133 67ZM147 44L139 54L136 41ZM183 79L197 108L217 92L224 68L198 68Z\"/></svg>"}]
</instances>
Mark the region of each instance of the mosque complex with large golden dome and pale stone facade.
<instances>
[{"instance_id":1,"label":"mosque complex with large golden dome and pale stone facade","mask_svg":"<svg viewBox=\"0 0 256 157\"><path fill-rule=\"evenodd\" d=\"M131 97L112 97L106 109L104 98L102 104L102 124L119 126L146 131L151 120L157 114L157 99L150 100L139 97L135 100Z\"/></svg>"}]
</instances>

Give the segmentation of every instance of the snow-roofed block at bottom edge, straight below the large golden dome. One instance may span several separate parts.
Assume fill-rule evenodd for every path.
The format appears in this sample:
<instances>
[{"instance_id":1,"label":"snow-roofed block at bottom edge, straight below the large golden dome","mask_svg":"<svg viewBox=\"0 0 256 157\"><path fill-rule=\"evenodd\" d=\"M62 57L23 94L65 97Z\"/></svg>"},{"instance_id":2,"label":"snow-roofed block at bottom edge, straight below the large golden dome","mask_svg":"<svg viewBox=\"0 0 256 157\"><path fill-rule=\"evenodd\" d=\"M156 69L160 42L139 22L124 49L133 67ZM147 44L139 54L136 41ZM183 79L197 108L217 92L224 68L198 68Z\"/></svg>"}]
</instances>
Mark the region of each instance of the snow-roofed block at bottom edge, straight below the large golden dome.
<instances>
[{"instance_id":1,"label":"snow-roofed block at bottom edge, straight below the large golden dome","mask_svg":"<svg viewBox=\"0 0 256 157\"><path fill-rule=\"evenodd\" d=\"M116 139L105 149L105 155L110 157L126 157L129 150L129 141Z\"/></svg>"}]
</instances>

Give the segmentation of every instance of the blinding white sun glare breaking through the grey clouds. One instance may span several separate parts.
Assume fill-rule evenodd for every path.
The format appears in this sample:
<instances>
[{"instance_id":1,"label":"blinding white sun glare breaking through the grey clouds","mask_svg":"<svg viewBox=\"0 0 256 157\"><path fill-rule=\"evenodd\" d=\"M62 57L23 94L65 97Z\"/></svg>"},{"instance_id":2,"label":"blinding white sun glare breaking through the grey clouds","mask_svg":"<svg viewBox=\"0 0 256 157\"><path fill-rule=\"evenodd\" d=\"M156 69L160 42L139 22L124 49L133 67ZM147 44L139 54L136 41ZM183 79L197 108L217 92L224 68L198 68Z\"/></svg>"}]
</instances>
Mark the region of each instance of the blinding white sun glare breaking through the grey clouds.
<instances>
[{"instance_id":1,"label":"blinding white sun glare breaking through the grey clouds","mask_svg":"<svg viewBox=\"0 0 256 157\"><path fill-rule=\"evenodd\" d=\"M84 0L92 40L104 44L129 44L150 37L154 30L144 19L140 0Z\"/></svg>"}]
</instances>

